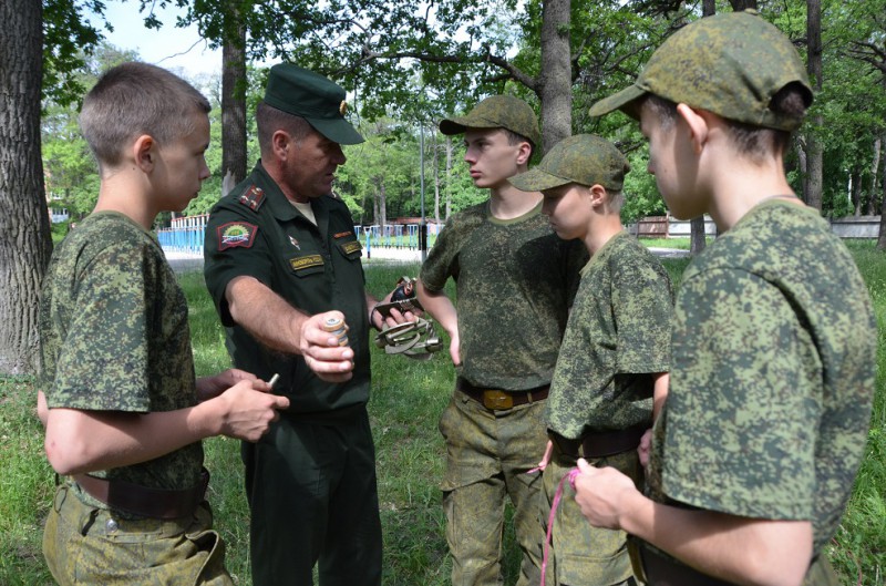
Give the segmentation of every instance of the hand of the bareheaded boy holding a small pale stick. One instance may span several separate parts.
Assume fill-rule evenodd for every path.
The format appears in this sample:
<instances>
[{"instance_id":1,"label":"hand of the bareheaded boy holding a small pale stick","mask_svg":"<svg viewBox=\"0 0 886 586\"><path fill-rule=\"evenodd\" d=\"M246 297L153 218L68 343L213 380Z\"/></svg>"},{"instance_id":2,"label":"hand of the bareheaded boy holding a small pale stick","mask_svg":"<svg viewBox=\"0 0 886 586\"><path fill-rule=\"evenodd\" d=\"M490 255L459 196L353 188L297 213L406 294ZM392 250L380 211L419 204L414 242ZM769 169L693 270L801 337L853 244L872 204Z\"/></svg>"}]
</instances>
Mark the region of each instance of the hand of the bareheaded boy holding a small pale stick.
<instances>
[{"instance_id":1,"label":"hand of the bareheaded boy holding a small pale stick","mask_svg":"<svg viewBox=\"0 0 886 586\"><path fill-rule=\"evenodd\" d=\"M289 408L289 399L257 391L249 380L238 382L214 400L224 404L220 434L250 442L268 432L271 422L280 417L278 409Z\"/></svg>"}]
</instances>

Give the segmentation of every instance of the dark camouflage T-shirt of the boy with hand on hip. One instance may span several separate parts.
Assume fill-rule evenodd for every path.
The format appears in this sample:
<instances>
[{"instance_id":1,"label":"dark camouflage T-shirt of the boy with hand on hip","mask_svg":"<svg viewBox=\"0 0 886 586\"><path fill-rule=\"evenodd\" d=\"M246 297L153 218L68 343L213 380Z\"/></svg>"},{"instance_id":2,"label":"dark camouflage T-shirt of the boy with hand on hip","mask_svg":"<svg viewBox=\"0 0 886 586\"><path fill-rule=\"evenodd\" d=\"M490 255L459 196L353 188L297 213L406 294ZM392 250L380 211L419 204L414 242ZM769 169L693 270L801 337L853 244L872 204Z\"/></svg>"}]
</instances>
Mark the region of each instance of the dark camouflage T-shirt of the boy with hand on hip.
<instances>
[{"instance_id":1,"label":"dark camouflage T-shirt of the boy with hand on hip","mask_svg":"<svg viewBox=\"0 0 886 586\"><path fill-rule=\"evenodd\" d=\"M475 387L534 389L554 373L587 251L559 239L540 209L499 220L487 202L468 207L446 222L422 266L432 291L455 280L456 370Z\"/></svg>"}]
</instances>

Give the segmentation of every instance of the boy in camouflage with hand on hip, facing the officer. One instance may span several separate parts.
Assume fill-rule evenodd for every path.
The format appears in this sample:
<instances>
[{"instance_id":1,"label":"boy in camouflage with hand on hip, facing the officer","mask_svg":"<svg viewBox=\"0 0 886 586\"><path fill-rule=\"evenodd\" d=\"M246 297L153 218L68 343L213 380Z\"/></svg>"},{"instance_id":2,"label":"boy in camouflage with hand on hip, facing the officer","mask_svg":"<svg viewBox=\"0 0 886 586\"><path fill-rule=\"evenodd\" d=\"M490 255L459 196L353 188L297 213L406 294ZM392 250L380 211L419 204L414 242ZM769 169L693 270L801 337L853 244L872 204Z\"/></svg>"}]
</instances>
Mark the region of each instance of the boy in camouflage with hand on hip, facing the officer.
<instances>
[{"instance_id":1,"label":"boy in camouflage with hand on hip, facing the officer","mask_svg":"<svg viewBox=\"0 0 886 586\"><path fill-rule=\"evenodd\" d=\"M521 586L540 579L544 530L535 467L547 440L544 399L578 269L578 241L560 240L542 215L542 195L509 183L526 171L540 141L535 113L516 97L494 95L467 115L443 120L464 133L474 185L490 199L446 222L422 266L422 306L450 333L457 380L440 420L446 440L442 489L452 583L502 584L505 502L523 549ZM452 277L456 307L443 287Z\"/></svg>"}]
</instances>

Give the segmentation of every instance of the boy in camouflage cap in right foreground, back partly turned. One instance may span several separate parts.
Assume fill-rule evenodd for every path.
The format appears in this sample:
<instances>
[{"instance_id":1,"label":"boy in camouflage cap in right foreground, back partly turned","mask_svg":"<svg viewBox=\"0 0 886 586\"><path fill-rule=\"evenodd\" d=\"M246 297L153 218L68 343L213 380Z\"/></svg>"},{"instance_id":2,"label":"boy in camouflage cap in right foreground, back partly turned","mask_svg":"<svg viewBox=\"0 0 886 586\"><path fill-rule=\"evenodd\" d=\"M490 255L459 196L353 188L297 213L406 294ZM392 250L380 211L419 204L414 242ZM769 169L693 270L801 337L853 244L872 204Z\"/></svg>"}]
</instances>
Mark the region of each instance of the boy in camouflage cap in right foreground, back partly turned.
<instances>
[{"instance_id":1,"label":"boy in camouflage cap in right foreground, back partly turned","mask_svg":"<svg viewBox=\"0 0 886 586\"><path fill-rule=\"evenodd\" d=\"M648 496L610 469L577 480L593 524L639 537L653 585L837 584L823 548L865 445L876 322L851 255L785 178L811 102L791 42L741 12L687 25L591 107L639 116L671 213L721 232L677 296Z\"/></svg>"}]
</instances>

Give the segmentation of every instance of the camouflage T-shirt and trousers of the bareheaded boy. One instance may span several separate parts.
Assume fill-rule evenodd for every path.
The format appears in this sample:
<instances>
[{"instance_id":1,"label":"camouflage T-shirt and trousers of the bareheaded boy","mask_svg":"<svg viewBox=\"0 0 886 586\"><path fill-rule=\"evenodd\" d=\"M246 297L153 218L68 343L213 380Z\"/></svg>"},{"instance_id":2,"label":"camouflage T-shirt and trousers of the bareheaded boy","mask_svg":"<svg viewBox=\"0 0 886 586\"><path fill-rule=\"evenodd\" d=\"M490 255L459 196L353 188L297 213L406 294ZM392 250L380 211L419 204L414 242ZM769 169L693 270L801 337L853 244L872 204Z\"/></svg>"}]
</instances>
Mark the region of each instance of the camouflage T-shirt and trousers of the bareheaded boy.
<instances>
[{"instance_id":1,"label":"camouflage T-shirt and trousers of the bareheaded boy","mask_svg":"<svg viewBox=\"0 0 886 586\"><path fill-rule=\"evenodd\" d=\"M157 241L121 214L89 216L55 248L39 328L40 388L50 408L146 413L197 403L185 296ZM195 442L93 475L181 490L197 483L202 464ZM212 556L197 553L182 528L158 538L168 523L109 511L69 483L58 489L43 535L60 584L197 584L204 563L204 576L216 578L202 584L230 584L208 524L199 539L213 542Z\"/></svg>"}]
</instances>

